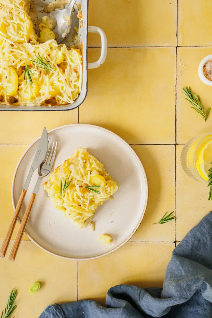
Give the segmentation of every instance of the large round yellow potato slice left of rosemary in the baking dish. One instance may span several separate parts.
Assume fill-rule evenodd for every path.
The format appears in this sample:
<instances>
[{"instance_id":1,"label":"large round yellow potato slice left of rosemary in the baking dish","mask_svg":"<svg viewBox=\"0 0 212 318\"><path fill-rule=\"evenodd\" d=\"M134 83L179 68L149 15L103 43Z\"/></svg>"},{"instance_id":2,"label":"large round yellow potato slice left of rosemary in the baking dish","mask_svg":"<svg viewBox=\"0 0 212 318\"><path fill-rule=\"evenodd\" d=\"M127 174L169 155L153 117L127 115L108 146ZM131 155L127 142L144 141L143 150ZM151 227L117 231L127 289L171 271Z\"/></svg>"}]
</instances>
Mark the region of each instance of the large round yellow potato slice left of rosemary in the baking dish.
<instances>
[{"instance_id":1,"label":"large round yellow potato slice left of rosemary in the baking dish","mask_svg":"<svg viewBox=\"0 0 212 318\"><path fill-rule=\"evenodd\" d=\"M5 70L5 81L3 83L3 91L7 96L13 96L18 89L18 75L14 68L8 67Z\"/></svg>"}]
</instances>

